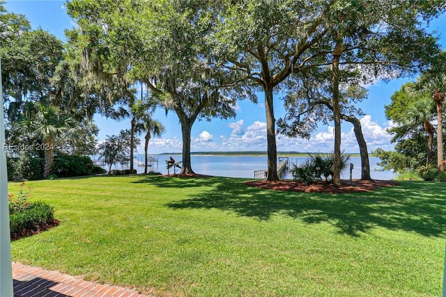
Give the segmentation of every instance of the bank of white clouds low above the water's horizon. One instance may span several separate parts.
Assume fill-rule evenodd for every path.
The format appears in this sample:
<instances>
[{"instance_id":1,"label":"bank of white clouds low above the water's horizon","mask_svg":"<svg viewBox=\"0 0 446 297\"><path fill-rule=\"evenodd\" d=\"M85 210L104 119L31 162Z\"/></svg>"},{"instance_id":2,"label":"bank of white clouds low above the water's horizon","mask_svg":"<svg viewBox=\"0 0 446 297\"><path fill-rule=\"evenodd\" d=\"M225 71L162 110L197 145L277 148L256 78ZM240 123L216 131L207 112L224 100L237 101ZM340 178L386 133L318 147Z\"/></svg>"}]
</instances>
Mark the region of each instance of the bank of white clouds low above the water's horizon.
<instances>
[{"instance_id":1,"label":"bank of white clouds low above the water's horizon","mask_svg":"<svg viewBox=\"0 0 446 297\"><path fill-rule=\"evenodd\" d=\"M394 125L386 122L379 125L374 122L370 115L360 119L362 132L367 142L367 150L375 150L382 147L383 150L393 150L390 143L392 136L387 134L386 129ZM266 122L256 121L245 129L244 120L229 123L231 134L220 134L215 138L208 131L203 130L197 138L192 138L192 152L199 151L266 151ZM341 150L345 152L359 152L353 126L349 122L342 122L343 132L341 134ZM309 140L302 138L289 138L277 134L277 150L298 152L331 152L334 145L334 127L327 127L325 131L314 134ZM141 145L139 152L144 152ZM149 144L151 154L158 152L181 152L182 142L178 138L152 138Z\"/></svg>"}]
</instances>

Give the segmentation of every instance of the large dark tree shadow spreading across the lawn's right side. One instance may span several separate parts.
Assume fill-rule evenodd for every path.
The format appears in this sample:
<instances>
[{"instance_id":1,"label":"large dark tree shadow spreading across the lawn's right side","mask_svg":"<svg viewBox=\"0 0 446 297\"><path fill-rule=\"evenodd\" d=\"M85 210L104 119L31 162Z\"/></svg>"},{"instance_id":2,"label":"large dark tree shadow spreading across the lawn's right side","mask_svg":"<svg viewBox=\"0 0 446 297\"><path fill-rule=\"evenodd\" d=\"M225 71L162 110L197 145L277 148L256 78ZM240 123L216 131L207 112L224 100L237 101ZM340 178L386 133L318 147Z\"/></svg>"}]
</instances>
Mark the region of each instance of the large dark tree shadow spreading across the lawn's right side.
<instances>
[{"instance_id":1,"label":"large dark tree shadow spreading across the lawn's right side","mask_svg":"<svg viewBox=\"0 0 446 297\"><path fill-rule=\"evenodd\" d=\"M221 209L239 216L269 220L283 214L314 224L327 222L342 234L360 236L376 226L444 236L446 189L434 182L404 182L369 193L322 194L270 191L248 187L240 179L160 180L156 186L209 186L188 198L169 202L171 209Z\"/></svg>"}]
</instances>

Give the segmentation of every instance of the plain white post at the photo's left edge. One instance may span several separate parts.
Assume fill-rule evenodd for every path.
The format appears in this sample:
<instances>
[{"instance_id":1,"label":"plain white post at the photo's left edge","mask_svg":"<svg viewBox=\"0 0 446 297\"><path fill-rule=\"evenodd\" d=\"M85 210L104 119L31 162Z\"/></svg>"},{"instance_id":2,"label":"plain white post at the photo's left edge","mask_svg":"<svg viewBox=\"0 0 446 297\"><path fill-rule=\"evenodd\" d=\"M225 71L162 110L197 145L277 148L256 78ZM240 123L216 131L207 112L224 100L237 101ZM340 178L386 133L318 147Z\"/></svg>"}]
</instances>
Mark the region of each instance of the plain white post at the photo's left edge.
<instances>
[{"instance_id":1,"label":"plain white post at the photo's left edge","mask_svg":"<svg viewBox=\"0 0 446 297\"><path fill-rule=\"evenodd\" d=\"M13 297L13 266L9 230L8 172L6 168L5 118L0 61L0 296Z\"/></svg>"}]
</instances>

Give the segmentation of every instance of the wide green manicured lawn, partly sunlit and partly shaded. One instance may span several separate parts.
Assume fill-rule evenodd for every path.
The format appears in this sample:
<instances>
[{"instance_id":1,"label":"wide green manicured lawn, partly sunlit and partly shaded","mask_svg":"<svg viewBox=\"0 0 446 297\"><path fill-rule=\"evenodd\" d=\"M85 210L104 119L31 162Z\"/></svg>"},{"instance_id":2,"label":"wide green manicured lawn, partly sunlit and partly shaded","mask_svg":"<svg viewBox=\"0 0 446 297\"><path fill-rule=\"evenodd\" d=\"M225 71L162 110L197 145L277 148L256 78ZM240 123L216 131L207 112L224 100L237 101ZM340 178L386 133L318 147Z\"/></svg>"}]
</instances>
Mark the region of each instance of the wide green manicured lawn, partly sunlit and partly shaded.
<instances>
[{"instance_id":1,"label":"wide green manicured lawn, partly sunlit and partly shaded","mask_svg":"<svg viewBox=\"0 0 446 297\"><path fill-rule=\"evenodd\" d=\"M268 191L221 177L26 186L62 223L13 242L23 264L157 296L440 296L444 183L348 195Z\"/></svg>"}]
</instances>

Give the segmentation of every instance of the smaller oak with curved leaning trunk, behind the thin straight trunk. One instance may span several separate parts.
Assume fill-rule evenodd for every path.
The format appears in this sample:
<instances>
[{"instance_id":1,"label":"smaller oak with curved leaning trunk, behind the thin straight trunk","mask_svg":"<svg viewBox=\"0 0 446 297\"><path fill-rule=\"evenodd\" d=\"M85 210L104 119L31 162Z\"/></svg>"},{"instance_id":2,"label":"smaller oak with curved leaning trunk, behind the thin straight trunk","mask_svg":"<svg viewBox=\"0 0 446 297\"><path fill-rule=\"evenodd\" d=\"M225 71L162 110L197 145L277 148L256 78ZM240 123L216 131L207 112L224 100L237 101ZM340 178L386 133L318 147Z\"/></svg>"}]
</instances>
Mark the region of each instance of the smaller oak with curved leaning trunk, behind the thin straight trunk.
<instances>
[{"instance_id":1,"label":"smaller oak with curved leaning trunk, behind the thin straight trunk","mask_svg":"<svg viewBox=\"0 0 446 297\"><path fill-rule=\"evenodd\" d=\"M358 115L363 111L355 108L355 103L367 97L367 90L359 86L355 73L339 72L339 117L351 122L360 148L361 179L369 180L370 164L367 143L362 134ZM286 114L277 121L277 131L289 137L310 138L318 127L318 122L329 125L334 117L332 98L332 71L312 69L310 73L300 75L289 85L289 93L284 97Z\"/></svg>"}]
</instances>

